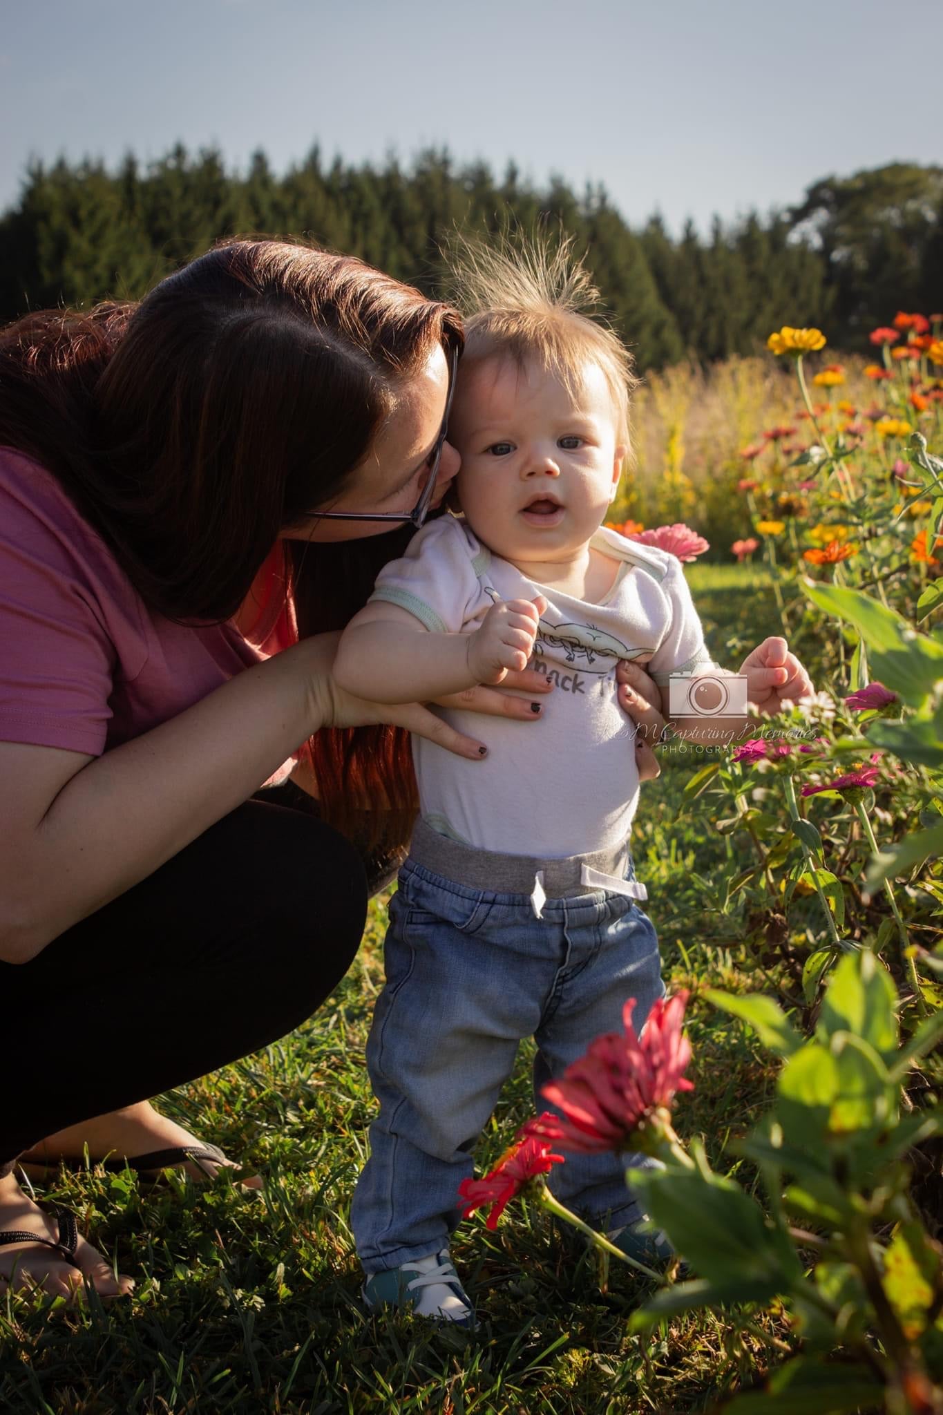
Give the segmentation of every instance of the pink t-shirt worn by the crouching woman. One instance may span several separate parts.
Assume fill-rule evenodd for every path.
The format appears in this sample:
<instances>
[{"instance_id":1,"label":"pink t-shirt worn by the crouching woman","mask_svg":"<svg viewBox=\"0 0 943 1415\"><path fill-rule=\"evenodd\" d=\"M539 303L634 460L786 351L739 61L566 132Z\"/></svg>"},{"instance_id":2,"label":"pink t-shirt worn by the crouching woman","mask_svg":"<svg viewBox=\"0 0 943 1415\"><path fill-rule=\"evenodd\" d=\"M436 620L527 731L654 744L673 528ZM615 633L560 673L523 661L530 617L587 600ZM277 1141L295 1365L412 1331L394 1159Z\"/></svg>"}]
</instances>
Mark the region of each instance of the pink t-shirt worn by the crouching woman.
<instances>
[{"instance_id":1,"label":"pink t-shirt worn by the crouching woman","mask_svg":"<svg viewBox=\"0 0 943 1415\"><path fill-rule=\"evenodd\" d=\"M274 548L253 584L249 638L171 624L55 477L1 447L0 740L98 757L286 648L297 628L280 563Z\"/></svg>"}]
</instances>

